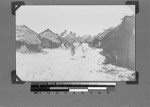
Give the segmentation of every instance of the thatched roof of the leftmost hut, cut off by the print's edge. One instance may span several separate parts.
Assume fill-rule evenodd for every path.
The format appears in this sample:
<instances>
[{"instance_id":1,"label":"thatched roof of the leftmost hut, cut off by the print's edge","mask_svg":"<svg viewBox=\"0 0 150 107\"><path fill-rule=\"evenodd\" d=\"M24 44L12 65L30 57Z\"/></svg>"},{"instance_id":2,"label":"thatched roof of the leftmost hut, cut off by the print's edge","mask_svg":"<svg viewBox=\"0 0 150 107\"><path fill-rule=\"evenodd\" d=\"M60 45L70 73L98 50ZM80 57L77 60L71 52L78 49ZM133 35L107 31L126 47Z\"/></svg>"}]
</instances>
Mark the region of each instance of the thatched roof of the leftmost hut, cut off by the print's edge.
<instances>
[{"instance_id":1,"label":"thatched roof of the leftmost hut, cut off by the print's edge","mask_svg":"<svg viewBox=\"0 0 150 107\"><path fill-rule=\"evenodd\" d=\"M29 45L41 44L38 34L25 25L16 26L16 41L21 41Z\"/></svg>"}]
</instances>

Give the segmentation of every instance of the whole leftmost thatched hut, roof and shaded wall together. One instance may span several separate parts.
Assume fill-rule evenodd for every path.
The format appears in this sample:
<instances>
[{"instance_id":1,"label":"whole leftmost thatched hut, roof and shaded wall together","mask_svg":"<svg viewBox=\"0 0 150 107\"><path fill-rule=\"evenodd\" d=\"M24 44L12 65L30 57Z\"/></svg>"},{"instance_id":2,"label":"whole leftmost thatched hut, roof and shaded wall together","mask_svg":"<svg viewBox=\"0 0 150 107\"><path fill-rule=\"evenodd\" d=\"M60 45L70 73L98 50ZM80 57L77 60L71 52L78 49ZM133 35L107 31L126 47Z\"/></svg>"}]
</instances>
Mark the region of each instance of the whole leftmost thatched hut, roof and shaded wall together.
<instances>
[{"instance_id":1,"label":"whole leftmost thatched hut, roof and shaded wall together","mask_svg":"<svg viewBox=\"0 0 150 107\"><path fill-rule=\"evenodd\" d=\"M38 39L38 34L25 25L17 25L16 50L21 53L42 51L41 41Z\"/></svg>"}]
</instances>

